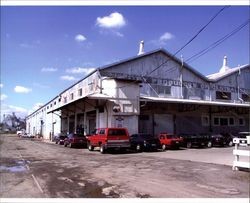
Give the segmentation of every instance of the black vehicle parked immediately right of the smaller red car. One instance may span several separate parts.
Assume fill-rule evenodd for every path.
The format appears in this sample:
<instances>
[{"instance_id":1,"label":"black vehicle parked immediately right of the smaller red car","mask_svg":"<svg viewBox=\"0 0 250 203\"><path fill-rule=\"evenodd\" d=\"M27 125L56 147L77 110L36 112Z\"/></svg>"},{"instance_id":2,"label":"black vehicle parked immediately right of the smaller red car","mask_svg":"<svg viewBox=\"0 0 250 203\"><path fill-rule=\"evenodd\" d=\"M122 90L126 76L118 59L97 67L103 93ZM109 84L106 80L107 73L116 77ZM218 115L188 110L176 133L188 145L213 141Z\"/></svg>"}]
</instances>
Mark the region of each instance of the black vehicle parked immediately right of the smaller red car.
<instances>
[{"instance_id":1,"label":"black vehicle parked immediately right of the smaller red car","mask_svg":"<svg viewBox=\"0 0 250 203\"><path fill-rule=\"evenodd\" d=\"M196 147L212 147L211 136L209 134L181 134L182 146L191 148Z\"/></svg>"}]
</instances>

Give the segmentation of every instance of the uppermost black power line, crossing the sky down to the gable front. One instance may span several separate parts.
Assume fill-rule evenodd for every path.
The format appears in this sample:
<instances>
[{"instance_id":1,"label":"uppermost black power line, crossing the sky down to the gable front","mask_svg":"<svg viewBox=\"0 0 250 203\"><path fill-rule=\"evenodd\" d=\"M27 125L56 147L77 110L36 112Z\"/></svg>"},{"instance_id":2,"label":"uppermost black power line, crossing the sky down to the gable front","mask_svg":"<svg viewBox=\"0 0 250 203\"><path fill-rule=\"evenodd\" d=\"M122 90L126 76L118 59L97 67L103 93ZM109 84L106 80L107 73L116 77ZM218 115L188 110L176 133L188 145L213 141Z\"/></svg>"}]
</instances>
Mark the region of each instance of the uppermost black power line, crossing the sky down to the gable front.
<instances>
[{"instance_id":1,"label":"uppermost black power line, crossing the sky down to the gable front","mask_svg":"<svg viewBox=\"0 0 250 203\"><path fill-rule=\"evenodd\" d=\"M178 49L173 55L172 57L174 57L176 54L178 54L181 50L183 50L187 45L189 45L196 37L198 37L198 35L226 8L229 8L230 6L224 6L222 9L220 9L209 21L208 23L206 23L186 44L184 44L180 49ZM157 66L155 69L153 69L151 72L147 73L146 75L144 75L143 77L150 75L151 73L153 73L154 71L156 71L157 69L159 69L162 65L166 64L170 59L166 60L165 62L163 62L162 64L160 64L159 66Z\"/></svg>"}]
</instances>

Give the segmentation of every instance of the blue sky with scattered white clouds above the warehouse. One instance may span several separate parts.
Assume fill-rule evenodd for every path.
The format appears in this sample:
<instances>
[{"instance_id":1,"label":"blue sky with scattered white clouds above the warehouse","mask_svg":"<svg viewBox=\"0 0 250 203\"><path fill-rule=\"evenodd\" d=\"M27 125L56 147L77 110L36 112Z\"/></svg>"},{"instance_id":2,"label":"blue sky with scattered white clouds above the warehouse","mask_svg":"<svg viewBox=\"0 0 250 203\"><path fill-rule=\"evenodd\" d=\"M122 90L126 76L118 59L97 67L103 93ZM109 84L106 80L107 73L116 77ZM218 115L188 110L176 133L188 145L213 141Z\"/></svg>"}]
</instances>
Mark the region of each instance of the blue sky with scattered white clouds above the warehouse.
<instances>
[{"instance_id":1,"label":"blue sky with scattered white clouds above the warehouse","mask_svg":"<svg viewBox=\"0 0 250 203\"><path fill-rule=\"evenodd\" d=\"M1 6L1 118L25 117L95 68L164 48L175 53L223 6ZM249 19L224 9L176 56L184 61ZM249 24L191 65L203 75L249 64Z\"/></svg>"}]
</instances>

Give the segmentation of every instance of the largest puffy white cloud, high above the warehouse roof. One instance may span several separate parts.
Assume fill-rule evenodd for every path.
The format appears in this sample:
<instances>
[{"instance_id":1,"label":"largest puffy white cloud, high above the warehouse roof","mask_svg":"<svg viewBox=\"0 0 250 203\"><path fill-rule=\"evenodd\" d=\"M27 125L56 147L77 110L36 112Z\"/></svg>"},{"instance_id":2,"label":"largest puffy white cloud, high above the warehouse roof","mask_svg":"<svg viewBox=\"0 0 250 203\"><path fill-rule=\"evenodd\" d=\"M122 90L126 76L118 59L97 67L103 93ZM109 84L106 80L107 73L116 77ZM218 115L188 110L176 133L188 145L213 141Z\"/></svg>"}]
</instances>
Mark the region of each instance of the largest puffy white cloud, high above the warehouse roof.
<instances>
[{"instance_id":1,"label":"largest puffy white cloud, high above the warehouse roof","mask_svg":"<svg viewBox=\"0 0 250 203\"><path fill-rule=\"evenodd\" d=\"M96 24L102 28L120 28L126 25L126 21L122 14L114 12L109 16L98 17Z\"/></svg>"}]
</instances>

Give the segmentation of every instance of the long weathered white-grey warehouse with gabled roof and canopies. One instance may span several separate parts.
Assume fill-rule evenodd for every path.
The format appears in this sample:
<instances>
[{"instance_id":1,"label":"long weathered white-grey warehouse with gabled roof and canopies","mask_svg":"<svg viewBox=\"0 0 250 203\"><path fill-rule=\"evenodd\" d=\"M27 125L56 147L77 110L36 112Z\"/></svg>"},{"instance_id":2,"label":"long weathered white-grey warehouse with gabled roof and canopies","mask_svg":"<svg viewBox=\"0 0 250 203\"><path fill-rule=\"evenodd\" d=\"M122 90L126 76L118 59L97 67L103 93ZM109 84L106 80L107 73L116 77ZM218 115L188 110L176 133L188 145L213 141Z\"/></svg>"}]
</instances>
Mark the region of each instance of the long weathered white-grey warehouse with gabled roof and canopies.
<instances>
[{"instance_id":1,"label":"long weathered white-grey warehouse with gabled roof and canopies","mask_svg":"<svg viewBox=\"0 0 250 203\"><path fill-rule=\"evenodd\" d=\"M26 118L26 130L59 132L127 127L129 133L249 131L250 65L204 76L164 49L97 68Z\"/></svg>"}]
</instances>

